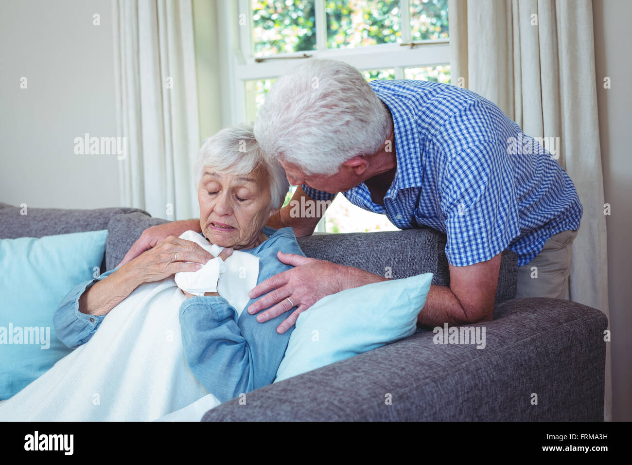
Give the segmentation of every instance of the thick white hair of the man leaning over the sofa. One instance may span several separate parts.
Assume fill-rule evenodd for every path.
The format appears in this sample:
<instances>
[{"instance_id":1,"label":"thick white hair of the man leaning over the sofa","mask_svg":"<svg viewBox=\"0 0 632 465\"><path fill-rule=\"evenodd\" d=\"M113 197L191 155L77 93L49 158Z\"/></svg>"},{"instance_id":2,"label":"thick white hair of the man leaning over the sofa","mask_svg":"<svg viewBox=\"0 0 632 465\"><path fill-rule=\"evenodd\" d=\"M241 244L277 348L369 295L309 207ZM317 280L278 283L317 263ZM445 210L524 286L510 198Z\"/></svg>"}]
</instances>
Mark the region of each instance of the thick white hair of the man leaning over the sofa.
<instances>
[{"instance_id":1,"label":"thick white hair of the man leaning over the sofa","mask_svg":"<svg viewBox=\"0 0 632 465\"><path fill-rule=\"evenodd\" d=\"M388 108L360 71L310 59L272 85L254 132L270 156L308 175L332 175L348 159L377 152L391 124Z\"/></svg>"}]
</instances>

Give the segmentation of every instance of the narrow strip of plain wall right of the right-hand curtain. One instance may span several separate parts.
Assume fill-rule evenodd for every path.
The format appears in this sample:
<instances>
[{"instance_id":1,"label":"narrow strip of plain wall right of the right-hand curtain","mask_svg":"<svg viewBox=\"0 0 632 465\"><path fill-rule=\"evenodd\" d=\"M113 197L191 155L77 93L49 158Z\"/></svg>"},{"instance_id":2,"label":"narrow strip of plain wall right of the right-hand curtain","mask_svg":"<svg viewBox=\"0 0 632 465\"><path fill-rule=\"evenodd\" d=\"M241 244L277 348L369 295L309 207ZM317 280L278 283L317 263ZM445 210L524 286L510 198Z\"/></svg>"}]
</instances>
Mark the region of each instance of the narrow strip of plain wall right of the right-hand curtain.
<instances>
[{"instance_id":1,"label":"narrow strip of plain wall right of the right-hand curtain","mask_svg":"<svg viewBox=\"0 0 632 465\"><path fill-rule=\"evenodd\" d=\"M629 18L632 2L593 0L599 139L608 230L608 295L612 332L612 419L632 420L632 128ZM611 89L604 89L604 77Z\"/></svg>"}]
</instances>

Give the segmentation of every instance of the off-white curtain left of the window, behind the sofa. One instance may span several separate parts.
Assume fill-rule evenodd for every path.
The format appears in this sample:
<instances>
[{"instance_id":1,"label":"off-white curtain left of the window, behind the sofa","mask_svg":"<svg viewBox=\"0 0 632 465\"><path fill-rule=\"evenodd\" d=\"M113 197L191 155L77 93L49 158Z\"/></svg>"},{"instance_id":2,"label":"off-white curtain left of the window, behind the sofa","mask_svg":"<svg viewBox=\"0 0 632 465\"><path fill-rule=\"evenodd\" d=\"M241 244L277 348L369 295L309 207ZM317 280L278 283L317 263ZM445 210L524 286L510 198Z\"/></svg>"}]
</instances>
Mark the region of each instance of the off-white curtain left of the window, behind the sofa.
<instances>
[{"instance_id":1,"label":"off-white curtain left of the window, behind the sofa","mask_svg":"<svg viewBox=\"0 0 632 465\"><path fill-rule=\"evenodd\" d=\"M168 220L197 218L200 146L191 0L114 1L121 204Z\"/></svg>"}]
</instances>

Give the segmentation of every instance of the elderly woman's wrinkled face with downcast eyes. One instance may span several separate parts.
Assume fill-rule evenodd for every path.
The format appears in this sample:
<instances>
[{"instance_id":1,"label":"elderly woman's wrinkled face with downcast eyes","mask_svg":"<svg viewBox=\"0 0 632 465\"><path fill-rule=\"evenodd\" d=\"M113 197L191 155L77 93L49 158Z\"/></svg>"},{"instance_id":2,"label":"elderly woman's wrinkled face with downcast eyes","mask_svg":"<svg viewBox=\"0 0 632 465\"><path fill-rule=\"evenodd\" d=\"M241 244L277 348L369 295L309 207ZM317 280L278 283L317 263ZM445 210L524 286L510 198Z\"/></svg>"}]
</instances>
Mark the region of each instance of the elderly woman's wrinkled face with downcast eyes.
<instances>
[{"instance_id":1,"label":"elderly woman's wrinkled face with downcast eyes","mask_svg":"<svg viewBox=\"0 0 632 465\"><path fill-rule=\"evenodd\" d=\"M267 175L258 170L236 176L205 168L198 201L204 236L212 244L235 250L261 244L265 222L276 213L270 208Z\"/></svg>"}]
</instances>

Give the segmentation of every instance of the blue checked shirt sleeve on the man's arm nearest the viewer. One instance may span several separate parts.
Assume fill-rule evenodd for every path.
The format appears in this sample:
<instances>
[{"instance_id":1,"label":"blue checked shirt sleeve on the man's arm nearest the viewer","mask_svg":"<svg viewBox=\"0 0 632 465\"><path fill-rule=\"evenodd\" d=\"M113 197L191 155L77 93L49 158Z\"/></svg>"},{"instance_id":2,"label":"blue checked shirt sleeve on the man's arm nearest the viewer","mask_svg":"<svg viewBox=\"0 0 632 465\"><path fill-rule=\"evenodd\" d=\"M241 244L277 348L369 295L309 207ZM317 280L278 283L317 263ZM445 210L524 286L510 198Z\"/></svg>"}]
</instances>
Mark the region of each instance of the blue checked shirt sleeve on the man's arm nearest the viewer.
<instances>
[{"instance_id":1,"label":"blue checked shirt sleeve on the man's arm nearest the viewer","mask_svg":"<svg viewBox=\"0 0 632 465\"><path fill-rule=\"evenodd\" d=\"M453 266L487 261L520 235L513 170L500 142L478 142L454 154L440 186Z\"/></svg>"}]
</instances>

